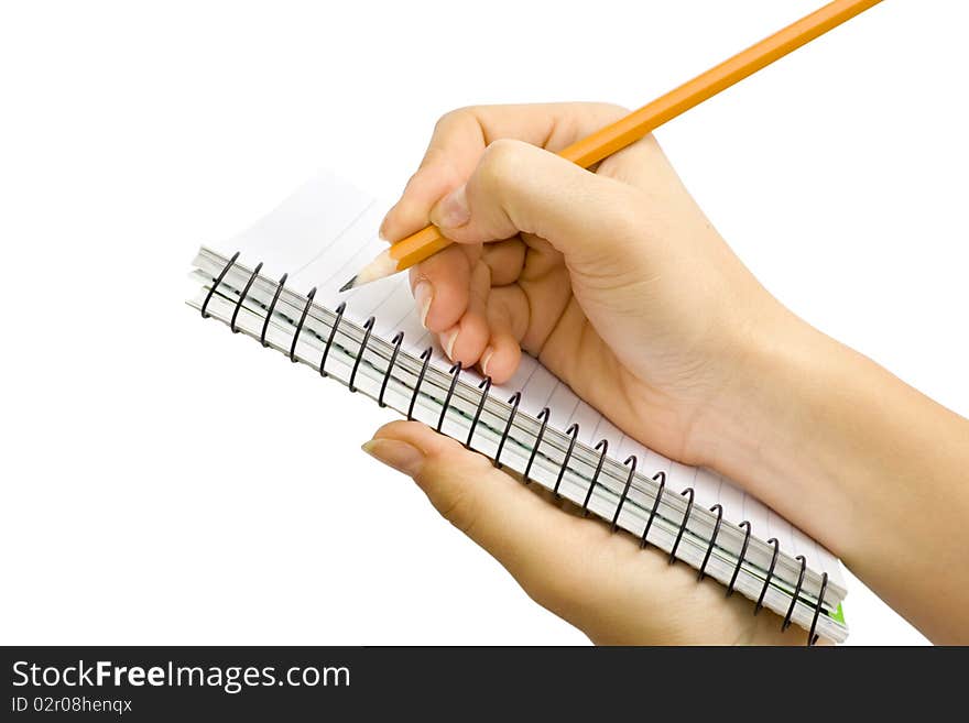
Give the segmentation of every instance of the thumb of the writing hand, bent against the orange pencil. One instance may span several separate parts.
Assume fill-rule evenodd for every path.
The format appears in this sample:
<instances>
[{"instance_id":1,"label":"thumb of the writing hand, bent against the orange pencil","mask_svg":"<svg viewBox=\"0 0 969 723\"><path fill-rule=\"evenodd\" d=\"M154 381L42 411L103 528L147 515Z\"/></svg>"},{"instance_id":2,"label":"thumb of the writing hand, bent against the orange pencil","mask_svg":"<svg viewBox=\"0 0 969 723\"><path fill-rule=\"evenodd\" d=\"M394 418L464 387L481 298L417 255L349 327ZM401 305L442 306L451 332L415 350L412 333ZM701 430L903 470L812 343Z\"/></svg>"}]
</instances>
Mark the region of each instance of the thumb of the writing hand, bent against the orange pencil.
<instances>
[{"instance_id":1,"label":"thumb of the writing hand, bent against the orange pencil","mask_svg":"<svg viewBox=\"0 0 969 723\"><path fill-rule=\"evenodd\" d=\"M484 151L470 178L431 210L458 243L484 243L519 232L547 240L567 259L602 261L634 242L639 191L522 141Z\"/></svg>"}]
</instances>

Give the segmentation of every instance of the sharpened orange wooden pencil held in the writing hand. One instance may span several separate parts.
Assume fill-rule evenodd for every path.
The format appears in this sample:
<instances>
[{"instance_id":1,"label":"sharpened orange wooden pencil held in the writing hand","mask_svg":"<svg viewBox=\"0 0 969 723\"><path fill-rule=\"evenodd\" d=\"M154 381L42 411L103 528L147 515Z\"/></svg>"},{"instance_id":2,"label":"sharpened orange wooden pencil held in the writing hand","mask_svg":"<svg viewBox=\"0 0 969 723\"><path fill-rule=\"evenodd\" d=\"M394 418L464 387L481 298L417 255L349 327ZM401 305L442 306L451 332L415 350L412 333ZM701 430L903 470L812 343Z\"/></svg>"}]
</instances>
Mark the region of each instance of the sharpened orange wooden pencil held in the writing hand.
<instances>
[{"instance_id":1,"label":"sharpened orange wooden pencil held in the writing hand","mask_svg":"<svg viewBox=\"0 0 969 723\"><path fill-rule=\"evenodd\" d=\"M558 155L588 168L879 2L881 0L835 0L611 125L576 141L559 151ZM344 284L340 291L410 269L450 243L437 227L427 226L391 245Z\"/></svg>"}]
</instances>

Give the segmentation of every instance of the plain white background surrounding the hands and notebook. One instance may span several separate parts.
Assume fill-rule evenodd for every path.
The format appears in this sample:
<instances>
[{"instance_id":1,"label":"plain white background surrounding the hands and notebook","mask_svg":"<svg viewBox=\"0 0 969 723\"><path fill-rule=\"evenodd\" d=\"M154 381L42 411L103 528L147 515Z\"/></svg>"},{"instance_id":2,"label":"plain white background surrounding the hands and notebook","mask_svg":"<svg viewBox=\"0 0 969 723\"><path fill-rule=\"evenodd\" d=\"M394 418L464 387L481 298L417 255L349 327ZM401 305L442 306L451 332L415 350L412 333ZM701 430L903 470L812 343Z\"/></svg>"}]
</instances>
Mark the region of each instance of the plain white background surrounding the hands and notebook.
<instances>
[{"instance_id":1,"label":"plain white background surrounding the hands and notebook","mask_svg":"<svg viewBox=\"0 0 969 723\"><path fill-rule=\"evenodd\" d=\"M584 643L358 450L388 414L185 273L320 166L396 194L450 108L638 107L819 1L4 2L0 642ZM884 2L657 136L785 304L965 415L963 4Z\"/></svg>"}]
</instances>

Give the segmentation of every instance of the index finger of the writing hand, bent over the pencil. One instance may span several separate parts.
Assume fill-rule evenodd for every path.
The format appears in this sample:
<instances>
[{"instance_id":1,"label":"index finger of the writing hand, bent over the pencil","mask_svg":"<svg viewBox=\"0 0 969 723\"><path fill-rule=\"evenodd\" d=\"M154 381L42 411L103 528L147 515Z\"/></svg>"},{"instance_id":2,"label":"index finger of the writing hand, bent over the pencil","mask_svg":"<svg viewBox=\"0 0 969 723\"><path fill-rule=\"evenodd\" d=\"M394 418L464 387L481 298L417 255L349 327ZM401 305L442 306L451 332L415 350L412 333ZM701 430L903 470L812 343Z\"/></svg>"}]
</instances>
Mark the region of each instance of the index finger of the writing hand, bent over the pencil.
<instances>
[{"instance_id":1,"label":"index finger of the writing hand, bent over the pencil","mask_svg":"<svg viewBox=\"0 0 969 723\"><path fill-rule=\"evenodd\" d=\"M443 116L420 168L388 211L381 237L396 241L427 226L431 208L467 179L492 141L518 139L558 151L624 113L607 103L542 103L477 106Z\"/></svg>"}]
</instances>

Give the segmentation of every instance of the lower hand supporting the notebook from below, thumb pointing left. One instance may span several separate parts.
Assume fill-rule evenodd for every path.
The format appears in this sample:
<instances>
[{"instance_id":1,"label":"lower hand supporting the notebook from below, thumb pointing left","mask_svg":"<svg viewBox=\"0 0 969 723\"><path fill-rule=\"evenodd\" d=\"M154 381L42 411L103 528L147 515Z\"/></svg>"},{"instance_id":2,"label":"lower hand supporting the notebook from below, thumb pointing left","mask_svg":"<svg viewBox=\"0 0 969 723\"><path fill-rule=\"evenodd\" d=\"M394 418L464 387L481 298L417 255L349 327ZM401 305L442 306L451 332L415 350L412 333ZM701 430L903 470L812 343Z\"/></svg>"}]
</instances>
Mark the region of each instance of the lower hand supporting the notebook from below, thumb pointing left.
<instances>
[{"instance_id":1,"label":"lower hand supporting the notebook from below, thumb pointing left","mask_svg":"<svg viewBox=\"0 0 969 723\"><path fill-rule=\"evenodd\" d=\"M477 452L417 421L393 421L363 449L417 482L434 506L488 550L538 604L597 644L804 645L807 633L740 594L697 582L683 562L534 494ZM544 496L545 500L540 499ZM547 501L547 502L546 502ZM657 614L657 611L663 611Z\"/></svg>"}]
</instances>

